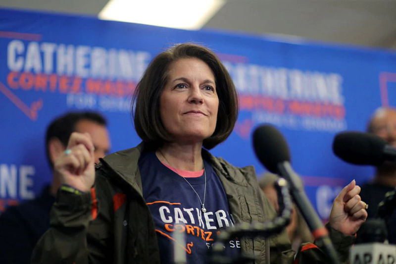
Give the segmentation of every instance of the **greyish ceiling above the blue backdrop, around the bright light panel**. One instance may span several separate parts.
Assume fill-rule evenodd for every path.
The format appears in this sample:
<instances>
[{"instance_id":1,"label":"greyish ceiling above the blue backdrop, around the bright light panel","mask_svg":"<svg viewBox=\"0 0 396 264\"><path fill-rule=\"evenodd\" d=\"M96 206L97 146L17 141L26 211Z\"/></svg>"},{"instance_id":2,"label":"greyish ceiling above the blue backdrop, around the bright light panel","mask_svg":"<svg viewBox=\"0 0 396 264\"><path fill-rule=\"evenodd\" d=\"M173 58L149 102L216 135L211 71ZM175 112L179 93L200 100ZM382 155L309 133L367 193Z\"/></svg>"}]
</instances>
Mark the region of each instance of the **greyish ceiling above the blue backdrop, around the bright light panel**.
<instances>
[{"instance_id":1,"label":"greyish ceiling above the blue backdrop, around the bright light panel","mask_svg":"<svg viewBox=\"0 0 396 264\"><path fill-rule=\"evenodd\" d=\"M1 0L1 7L97 15L107 0ZM396 50L396 0L226 0L204 28Z\"/></svg>"}]
</instances>

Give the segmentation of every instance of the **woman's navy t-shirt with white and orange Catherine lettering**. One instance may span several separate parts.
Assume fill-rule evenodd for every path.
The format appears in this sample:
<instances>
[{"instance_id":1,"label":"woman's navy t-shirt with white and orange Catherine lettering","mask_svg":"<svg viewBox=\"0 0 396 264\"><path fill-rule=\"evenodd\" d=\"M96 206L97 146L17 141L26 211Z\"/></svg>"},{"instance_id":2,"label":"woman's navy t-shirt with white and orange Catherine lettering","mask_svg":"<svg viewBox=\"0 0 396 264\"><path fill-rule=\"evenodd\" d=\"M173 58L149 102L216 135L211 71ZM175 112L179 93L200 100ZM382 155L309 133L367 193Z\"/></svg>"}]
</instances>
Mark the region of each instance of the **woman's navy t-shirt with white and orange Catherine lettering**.
<instances>
[{"instance_id":1,"label":"woman's navy t-shirt with white and orange Catherine lettering","mask_svg":"<svg viewBox=\"0 0 396 264\"><path fill-rule=\"evenodd\" d=\"M206 212L201 211L198 196L186 180L162 164L154 152L143 153L139 159L143 196L153 216L162 264L174 263L174 247L184 250L188 264L206 263L217 232L234 224L220 179L205 160L204 166ZM186 179L203 202L204 175ZM184 244L174 239L174 232L184 235ZM238 255L240 241L229 241L226 252Z\"/></svg>"}]
</instances>

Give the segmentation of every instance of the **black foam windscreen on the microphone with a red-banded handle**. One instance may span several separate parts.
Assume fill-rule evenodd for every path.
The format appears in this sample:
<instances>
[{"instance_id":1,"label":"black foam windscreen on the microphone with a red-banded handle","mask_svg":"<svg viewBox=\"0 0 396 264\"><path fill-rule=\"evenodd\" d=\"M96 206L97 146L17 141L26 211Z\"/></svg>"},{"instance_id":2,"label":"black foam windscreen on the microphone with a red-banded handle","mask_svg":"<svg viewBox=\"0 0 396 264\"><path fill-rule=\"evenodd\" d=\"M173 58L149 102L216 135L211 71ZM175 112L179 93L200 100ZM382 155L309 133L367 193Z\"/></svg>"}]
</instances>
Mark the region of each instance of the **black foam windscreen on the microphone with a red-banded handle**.
<instances>
[{"instance_id":1,"label":"black foam windscreen on the microphone with a red-banded handle","mask_svg":"<svg viewBox=\"0 0 396 264\"><path fill-rule=\"evenodd\" d=\"M290 161L288 144L273 126L261 125L254 130L253 148L257 158L273 173L278 173L278 163Z\"/></svg>"}]
</instances>

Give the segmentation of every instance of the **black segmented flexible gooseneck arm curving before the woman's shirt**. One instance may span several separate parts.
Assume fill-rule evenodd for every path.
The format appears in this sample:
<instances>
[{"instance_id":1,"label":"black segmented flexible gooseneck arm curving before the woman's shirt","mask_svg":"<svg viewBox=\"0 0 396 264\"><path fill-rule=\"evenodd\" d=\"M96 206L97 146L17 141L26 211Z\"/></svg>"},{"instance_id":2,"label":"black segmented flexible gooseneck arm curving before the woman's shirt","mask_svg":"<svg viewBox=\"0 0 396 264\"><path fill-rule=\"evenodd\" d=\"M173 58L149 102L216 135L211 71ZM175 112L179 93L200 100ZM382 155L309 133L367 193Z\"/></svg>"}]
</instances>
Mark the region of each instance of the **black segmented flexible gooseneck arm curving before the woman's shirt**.
<instances>
[{"instance_id":1,"label":"black segmented flexible gooseneck arm curving before the woman's shirt","mask_svg":"<svg viewBox=\"0 0 396 264\"><path fill-rule=\"evenodd\" d=\"M279 198L279 213L268 222L240 223L230 226L220 231L215 238L211 249L209 250L208 263L210 264L241 264L254 261L252 256L241 256L238 259L231 259L225 255L225 243L235 237L270 237L280 233L290 222L292 217L293 203L289 194L287 181L279 178L274 187L277 190Z\"/></svg>"}]
</instances>

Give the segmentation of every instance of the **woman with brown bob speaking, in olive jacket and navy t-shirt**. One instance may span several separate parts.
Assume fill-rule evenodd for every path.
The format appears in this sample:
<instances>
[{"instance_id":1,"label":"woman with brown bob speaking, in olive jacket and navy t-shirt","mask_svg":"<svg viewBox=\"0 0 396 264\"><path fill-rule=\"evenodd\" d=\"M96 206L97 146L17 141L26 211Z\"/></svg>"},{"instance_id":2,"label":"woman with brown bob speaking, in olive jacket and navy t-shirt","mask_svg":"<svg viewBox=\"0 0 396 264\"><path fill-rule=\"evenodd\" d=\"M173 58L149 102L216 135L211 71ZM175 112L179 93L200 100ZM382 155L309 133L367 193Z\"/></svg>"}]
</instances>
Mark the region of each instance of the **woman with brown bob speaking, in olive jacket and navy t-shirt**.
<instances>
[{"instance_id":1,"label":"woman with brown bob speaking, in olive jacket and navy t-shirt","mask_svg":"<svg viewBox=\"0 0 396 264\"><path fill-rule=\"evenodd\" d=\"M55 162L63 185L51 228L32 263L170 264L181 257L204 264L222 228L275 216L252 166L233 166L206 150L230 135L238 115L234 84L213 52L179 44L158 54L134 102L143 142L106 156L96 173L89 136L71 136ZM367 214L356 199L358 187L348 188L344 195L351 208L344 200L335 203L332 224L351 235ZM182 239L175 238L179 233ZM339 235L336 242L346 238ZM178 250L182 254L175 256ZM235 237L225 245L231 261L243 253L259 264L294 259L285 231L271 240Z\"/></svg>"}]
</instances>

